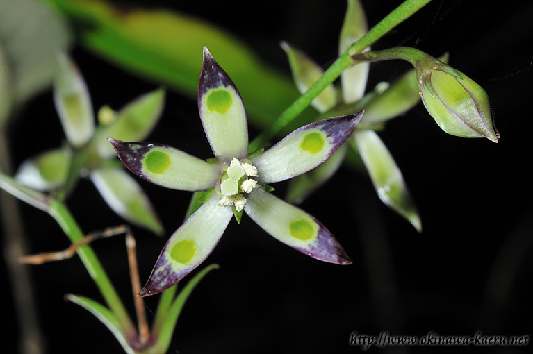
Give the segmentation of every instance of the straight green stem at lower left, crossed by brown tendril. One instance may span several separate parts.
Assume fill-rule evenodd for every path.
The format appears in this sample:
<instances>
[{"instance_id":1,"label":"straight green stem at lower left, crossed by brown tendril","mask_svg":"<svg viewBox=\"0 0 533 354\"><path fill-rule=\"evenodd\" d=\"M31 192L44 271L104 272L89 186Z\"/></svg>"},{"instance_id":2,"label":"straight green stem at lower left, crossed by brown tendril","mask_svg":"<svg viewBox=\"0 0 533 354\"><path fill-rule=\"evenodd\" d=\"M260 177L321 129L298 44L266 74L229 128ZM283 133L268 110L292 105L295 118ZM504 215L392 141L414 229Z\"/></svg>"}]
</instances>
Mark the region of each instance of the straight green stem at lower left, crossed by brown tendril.
<instances>
[{"instance_id":1,"label":"straight green stem at lower left, crossed by brown tendril","mask_svg":"<svg viewBox=\"0 0 533 354\"><path fill-rule=\"evenodd\" d=\"M76 221L72 217L72 214L69 212L65 204L57 201L56 199L49 199L48 212L51 217L58 222L59 226L69 237L71 242L77 242L83 238L84 235L81 229L79 228L78 224L76 224ZM133 322L129 318L122 301L120 301L120 297L111 284L106 271L104 271L104 268L101 266L96 254L94 251L92 251L92 248L85 245L78 248L76 252L78 253L79 258L81 258L81 261L89 272L92 280L95 281L102 296L104 296L104 299L110 310L113 311L113 313L117 316L117 319L119 319L120 323L122 323L124 331L126 333L135 331L136 329L133 325Z\"/></svg>"}]
</instances>

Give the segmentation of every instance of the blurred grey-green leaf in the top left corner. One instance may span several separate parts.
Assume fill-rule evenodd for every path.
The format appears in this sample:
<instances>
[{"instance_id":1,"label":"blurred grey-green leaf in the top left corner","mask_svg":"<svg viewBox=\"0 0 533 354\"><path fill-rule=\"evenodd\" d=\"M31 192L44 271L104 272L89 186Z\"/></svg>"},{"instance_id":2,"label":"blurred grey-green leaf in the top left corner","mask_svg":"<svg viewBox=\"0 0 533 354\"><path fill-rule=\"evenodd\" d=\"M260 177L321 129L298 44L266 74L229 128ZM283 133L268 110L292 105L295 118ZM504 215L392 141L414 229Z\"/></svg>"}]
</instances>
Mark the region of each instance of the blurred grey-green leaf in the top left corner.
<instances>
[{"instance_id":1,"label":"blurred grey-green leaf in the top left corner","mask_svg":"<svg viewBox=\"0 0 533 354\"><path fill-rule=\"evenodd\" d=\"M10 65L15 105L51 84L56 54L65 51L70 42L65 22L47 3L0 1L0 47Z\"/></svg>"}]
</instances>

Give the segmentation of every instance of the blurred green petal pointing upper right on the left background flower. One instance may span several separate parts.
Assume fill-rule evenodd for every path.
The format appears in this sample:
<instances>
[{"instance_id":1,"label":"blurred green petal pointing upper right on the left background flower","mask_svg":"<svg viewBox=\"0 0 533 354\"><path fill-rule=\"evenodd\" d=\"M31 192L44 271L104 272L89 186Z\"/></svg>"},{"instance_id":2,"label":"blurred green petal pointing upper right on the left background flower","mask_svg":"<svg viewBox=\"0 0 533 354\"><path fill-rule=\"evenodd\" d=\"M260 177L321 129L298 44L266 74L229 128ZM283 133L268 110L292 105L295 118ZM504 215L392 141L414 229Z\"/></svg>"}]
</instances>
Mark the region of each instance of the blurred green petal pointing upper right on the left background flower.
<instances>
[{"instance_id":1,"label":"blurred green petal pointing upper right on the left background flower","mask_svg":"<svg viewBox=\"0 0 533 354\"><path fill-rule=\"evenodd\" d=\"M139 96L128 103L117 113L117 118L108 126L101 126L95 144L98 154L102 158L115 156L113 147L107 141L108 137L128 142L139 142L145 139L156 125L163 106L165 105L165 90L158 89Z\"/></svg>"}]
</instances>

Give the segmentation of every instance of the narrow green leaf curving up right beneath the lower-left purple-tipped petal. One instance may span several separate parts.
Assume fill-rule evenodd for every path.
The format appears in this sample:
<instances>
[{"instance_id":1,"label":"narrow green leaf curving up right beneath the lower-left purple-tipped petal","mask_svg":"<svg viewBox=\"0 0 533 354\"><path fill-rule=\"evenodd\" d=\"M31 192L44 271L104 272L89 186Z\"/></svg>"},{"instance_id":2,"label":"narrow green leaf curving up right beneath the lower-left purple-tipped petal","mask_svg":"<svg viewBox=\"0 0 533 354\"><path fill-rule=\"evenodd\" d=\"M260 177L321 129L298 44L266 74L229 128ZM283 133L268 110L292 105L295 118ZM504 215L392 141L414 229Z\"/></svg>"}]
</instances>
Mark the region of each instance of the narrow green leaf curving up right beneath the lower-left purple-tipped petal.
<instances>
[{"instance_id":1,"label":"narrow green leaf curving up right beneath the lower-left purple-tipped petal","mask_svg":"<svg viewBox=\"0 0 533 354\"><path fill-rule=\"evenodd\" d=\"M174 334L174 328L178 321L179 314L183 305L187 301L188 297L192 293L192 290L198 285L198 283L204 278L204 276L213 269L218 269L218 264L211 264L208 267L202 269L197 273L189 282L186 287L183 287L177 298L172 303L172 306L166 312L166 317L161 320L161 326L156 326L152 330L152 335L157 338L156 344L151 348L152 353L167 353L172 335ZM167 290L168 292L169 290ZM159 312L158 312L159 313ZM159 323L158 321L156 323Z\"/></svg>"}]
</instances>

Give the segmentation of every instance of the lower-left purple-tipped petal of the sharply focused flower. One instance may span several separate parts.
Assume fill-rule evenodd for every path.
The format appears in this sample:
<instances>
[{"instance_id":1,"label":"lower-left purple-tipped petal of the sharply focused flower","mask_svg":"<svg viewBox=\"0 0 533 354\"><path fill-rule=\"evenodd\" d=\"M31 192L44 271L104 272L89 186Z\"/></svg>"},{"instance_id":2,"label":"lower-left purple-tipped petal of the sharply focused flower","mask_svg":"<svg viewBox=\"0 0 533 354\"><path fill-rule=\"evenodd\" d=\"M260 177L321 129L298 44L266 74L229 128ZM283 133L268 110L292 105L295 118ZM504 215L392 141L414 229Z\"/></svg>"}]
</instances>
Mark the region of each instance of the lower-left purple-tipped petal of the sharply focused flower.
<instances>
[{"instance_id":1,"label":"lower-left purple-tipped petal of the sharply focused flower","mask_svg":"<svg viewBox=\"0 0 533 354\"><path fill-rule=\"evenodd\" d=\"M233 217L233 207L218 206L219 201L212 193L168 239L139 296L163 292L204 262Z\"/></svg>"}]
</instances>

